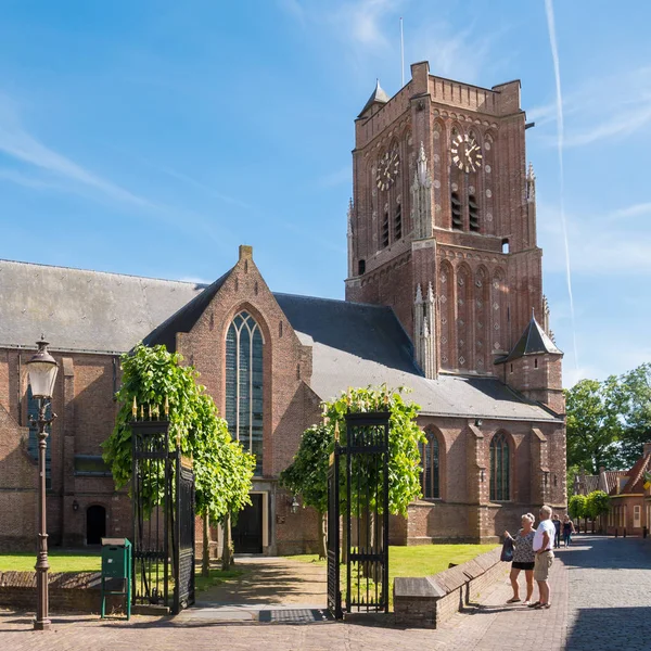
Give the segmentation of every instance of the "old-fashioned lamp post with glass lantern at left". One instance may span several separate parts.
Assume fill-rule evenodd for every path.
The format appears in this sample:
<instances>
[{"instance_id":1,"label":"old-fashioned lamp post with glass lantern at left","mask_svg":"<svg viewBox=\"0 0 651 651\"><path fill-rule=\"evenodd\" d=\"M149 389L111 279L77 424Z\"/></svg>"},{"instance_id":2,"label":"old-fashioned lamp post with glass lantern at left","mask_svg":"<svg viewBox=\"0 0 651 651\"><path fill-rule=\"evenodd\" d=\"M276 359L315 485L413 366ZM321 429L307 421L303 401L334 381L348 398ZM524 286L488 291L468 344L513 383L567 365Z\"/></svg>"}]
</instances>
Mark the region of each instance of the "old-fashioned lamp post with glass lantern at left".
<instances>
[{"instance_id":1,"label":"old-fashioned lamp post with glass lantern at left","mask_svg":"<svg viewBox=\"0 0 651 651\"><path fill-rule=\"evenodd\" d=\"M52 400L54 381L59 367L55 359L48 353L48 342L41 337L36 344L38 350L27 362L31 395L38 400L38 418L31 418L31 423L38 425L38 539L36 558L36 589L38 601L36 604L36 620L34 628L46 630L50 628L48 617L48 527L46 525L46 449L48 432L47 426L56 418L52 413L46 416L48 405Z\"/></svg>"}]
</instances>

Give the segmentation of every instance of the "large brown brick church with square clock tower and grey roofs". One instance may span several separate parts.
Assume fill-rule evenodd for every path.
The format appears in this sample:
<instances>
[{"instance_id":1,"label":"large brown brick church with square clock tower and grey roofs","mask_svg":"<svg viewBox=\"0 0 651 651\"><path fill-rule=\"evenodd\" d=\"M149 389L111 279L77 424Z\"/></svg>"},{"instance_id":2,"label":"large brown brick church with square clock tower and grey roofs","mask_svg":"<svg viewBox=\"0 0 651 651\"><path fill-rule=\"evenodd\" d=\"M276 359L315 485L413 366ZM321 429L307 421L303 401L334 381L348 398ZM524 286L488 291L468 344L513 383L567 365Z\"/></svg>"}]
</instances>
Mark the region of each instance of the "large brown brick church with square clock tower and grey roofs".
<instances>
[{"instance_id":1,"label":"large brown brick church with square clock tower and grey roofs","mask_svg":"<svg viewBox=\"0 0 651 651\"><path fill-rule=\"evenodd\" d=\"M278 476L320 401L349 386L405 386L421 407L422 498L392 516L392 544L494 541L542 503L564 512L563 355L542 294L527 126L519 81L480 88L421 62L394 97L378 84L355 120L345 301L275 293L244 245L209 285L0 260L0 548L36 538L25 362L41 332L60 366L53 545L131 533L101 444L119 356L140 341L194 366L256 457L235 551L316 548L316 513Z\"/></svg>"}]
</instances>

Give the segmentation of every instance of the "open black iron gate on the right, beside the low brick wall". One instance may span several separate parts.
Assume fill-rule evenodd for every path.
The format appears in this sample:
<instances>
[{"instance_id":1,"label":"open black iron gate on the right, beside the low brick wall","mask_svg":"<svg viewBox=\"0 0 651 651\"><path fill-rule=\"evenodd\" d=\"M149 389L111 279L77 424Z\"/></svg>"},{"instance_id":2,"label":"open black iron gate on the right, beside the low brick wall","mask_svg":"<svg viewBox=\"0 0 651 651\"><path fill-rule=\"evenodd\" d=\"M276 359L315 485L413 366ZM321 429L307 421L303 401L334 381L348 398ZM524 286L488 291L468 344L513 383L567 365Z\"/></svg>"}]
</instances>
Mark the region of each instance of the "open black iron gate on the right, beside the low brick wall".
<instances>
[{"instance_id":1,"label":"open black iron gate on the right, beside the low brick wall","mask_svg":"<svg viewBox=\"0 0 651 651\"><path fill-rule=\"evenodd\" d=\"M340 514L344 503L346 612L388 612L388 412L348 413L328 469L328 609L343 617ZM340 462L345 458L343 499Z\"/></svg>"}]
</instances>

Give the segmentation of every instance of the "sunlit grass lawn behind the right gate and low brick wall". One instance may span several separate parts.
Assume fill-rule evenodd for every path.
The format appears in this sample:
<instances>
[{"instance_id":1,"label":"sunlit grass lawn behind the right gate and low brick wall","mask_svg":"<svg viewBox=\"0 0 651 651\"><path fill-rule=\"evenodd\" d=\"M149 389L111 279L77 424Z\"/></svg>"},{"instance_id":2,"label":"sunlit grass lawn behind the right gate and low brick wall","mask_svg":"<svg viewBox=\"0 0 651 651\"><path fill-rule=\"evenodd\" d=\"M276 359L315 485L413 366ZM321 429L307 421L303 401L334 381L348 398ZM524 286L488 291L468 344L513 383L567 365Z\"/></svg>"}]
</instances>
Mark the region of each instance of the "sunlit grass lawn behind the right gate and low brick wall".
<instances>
[{"instance_id":1,"label":"sunlit grass lawn behind the right gate and low brick wall","mask_svg":"<svg viewBox=\"0 0 651 651\"><path fill-rule=\"evenodd\" d=\"M414 547L392 546L388 548L388 601L393 610L393 579L396 576L429 576L447 570L449 563L459 565L495 549L497 545L419 545ZM316 553L289 557L305 563L326 565ZM342 576L345 582L345 576ZM354 588L355 589L355 582ZM345 591L345 583L343 584Z\"/></svg>"}]
</instances>

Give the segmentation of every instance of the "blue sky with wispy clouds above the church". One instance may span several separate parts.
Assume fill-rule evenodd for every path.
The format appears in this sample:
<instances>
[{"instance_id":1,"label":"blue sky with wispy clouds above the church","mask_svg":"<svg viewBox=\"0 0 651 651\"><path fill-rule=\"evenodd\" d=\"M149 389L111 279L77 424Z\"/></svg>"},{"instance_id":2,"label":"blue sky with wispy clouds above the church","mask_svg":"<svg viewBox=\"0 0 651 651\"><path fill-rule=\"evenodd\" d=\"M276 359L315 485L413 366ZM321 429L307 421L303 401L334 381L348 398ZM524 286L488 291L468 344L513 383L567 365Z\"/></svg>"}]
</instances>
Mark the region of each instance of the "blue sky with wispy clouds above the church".
<instances>
[{"instance_id":1,"label":"blue sky with wispy clouds above the church","mask_svg":"<svg viewBox=\"0 0 651 651\"><path fill-rule=\"evenodd\" d=\"M407 68L522 79L565 384L621 373L651 359L651 7L613 7L553 3L575 330L544 0L5 0L0 257L212 281L246 243L275 291L343 297L353 120L400 87L403 16Z\"/></svg>"}]
</instances>

